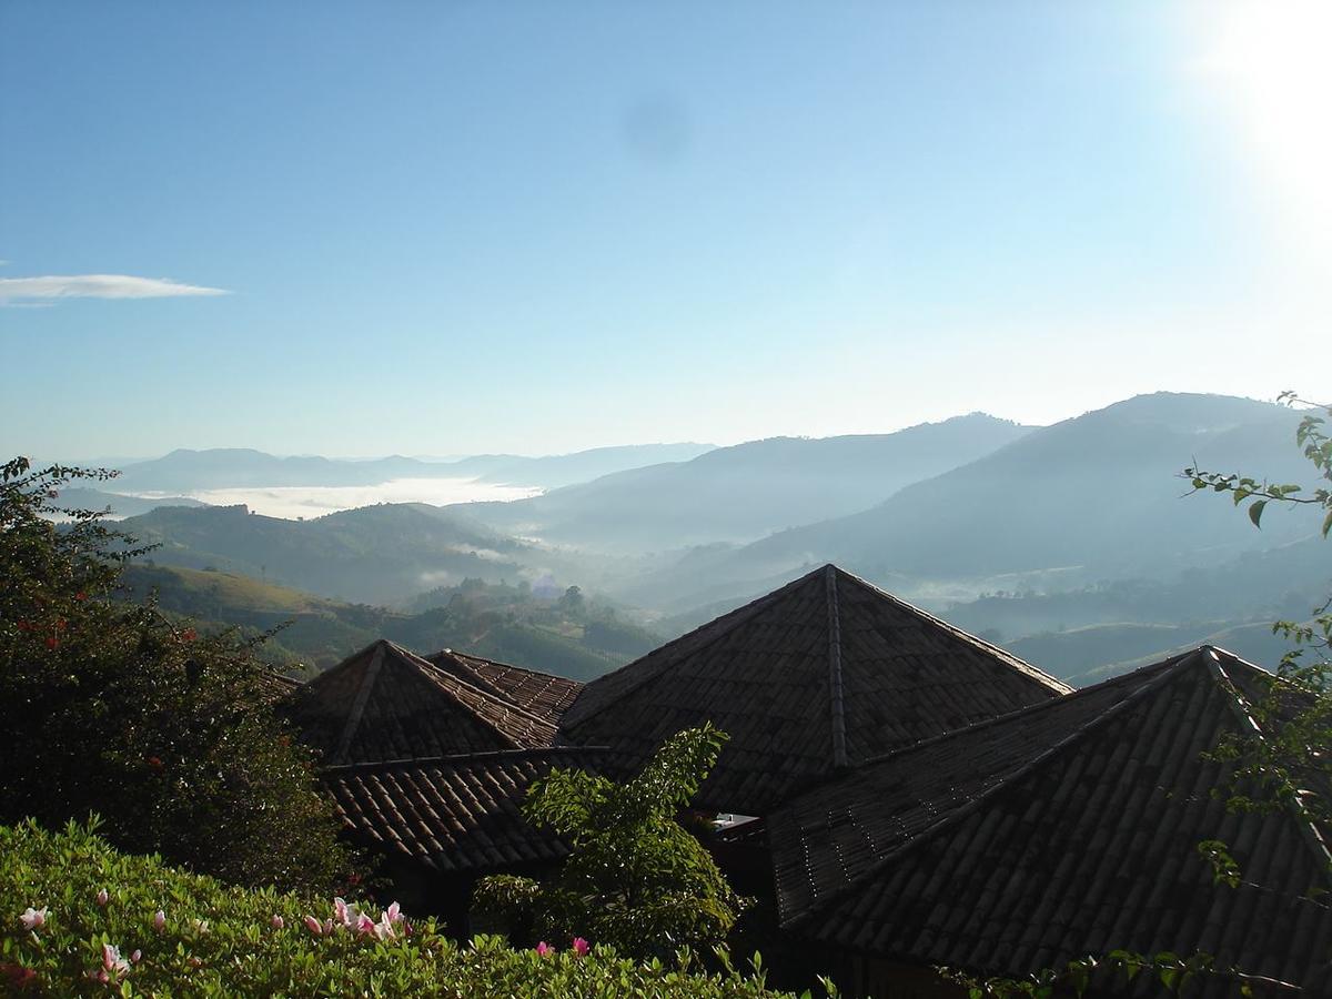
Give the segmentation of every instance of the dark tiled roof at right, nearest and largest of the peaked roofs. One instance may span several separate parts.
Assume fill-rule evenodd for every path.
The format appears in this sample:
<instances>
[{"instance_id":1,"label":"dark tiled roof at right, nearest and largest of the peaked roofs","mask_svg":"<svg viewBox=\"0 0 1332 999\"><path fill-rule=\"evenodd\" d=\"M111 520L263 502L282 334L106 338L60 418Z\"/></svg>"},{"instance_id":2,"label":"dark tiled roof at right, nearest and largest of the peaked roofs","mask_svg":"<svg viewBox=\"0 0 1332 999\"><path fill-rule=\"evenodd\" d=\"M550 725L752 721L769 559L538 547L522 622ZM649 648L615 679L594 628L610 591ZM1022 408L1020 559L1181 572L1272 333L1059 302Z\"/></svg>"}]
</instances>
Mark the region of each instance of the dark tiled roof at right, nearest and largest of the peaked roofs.
<instances>
[{"instance_id":1,"label":"dark tiled roof at right, nearest and largest of the peaked roofs","mask_svg":"<svg viewBox=\"0 0 1332 999\"><path fill-rule=\"evenodd\" d=\"M1332 910L1308 898L1332 887L1320 831L1293 811L1228 813L1209 794L1224 765L1201 759L1252 731L1245 699L1267 677L1203 647L801 795L767 819L783 924L986 974L1205 951L1325 986ZM1229 846L1240 888L1213 883L1204 839Z\"/></svg>"}]
</instances>

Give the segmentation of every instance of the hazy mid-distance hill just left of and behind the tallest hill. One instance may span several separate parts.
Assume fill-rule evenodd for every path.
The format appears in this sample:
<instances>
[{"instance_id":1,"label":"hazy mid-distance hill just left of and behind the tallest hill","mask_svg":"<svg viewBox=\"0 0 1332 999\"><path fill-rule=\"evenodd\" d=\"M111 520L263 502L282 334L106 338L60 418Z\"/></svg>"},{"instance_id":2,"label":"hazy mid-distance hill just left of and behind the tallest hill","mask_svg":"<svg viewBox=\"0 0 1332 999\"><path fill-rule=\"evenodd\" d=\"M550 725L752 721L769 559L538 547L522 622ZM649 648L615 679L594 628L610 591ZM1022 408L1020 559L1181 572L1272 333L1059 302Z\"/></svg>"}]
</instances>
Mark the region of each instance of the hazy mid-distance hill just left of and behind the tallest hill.
<instances>
[{"instance_id":1,"label":"hazy mid-distance hill just left of and behind the tallest hill","mask_svg":"<svg viewBox=\"0 0 1332 999\"><path fill-rule=\"evenodd\" d=\"M506 531L601 551L750 541L862 510L1027 432L974 413L891 434L774 437L531 500L462 509Z\"/></svg>"}]
</instances>

